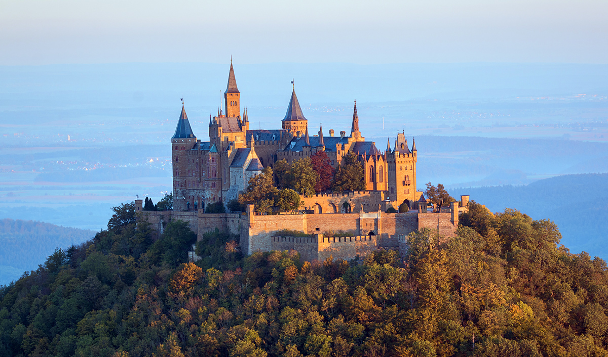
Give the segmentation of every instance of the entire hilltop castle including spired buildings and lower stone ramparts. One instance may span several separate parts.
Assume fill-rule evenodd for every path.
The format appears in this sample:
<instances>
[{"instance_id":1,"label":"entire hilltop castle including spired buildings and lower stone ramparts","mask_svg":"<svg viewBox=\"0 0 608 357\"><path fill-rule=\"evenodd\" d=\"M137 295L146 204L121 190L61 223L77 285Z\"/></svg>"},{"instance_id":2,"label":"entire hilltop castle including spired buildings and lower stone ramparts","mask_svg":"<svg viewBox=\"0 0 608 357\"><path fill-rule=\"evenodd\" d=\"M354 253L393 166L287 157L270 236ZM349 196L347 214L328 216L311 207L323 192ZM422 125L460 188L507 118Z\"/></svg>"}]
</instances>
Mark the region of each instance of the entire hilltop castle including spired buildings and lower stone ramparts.
<instances>
[{"instance_id":1,"label":"entire hilltop castle including spired buildings and lower stone ramparts","mask_svg":"<svg viewBox=\"0 0 608 357\"><path fill-rule=\"evenodd\" d=\"M353 259L370 251L385 248L405 251L407 235L421 228L454 236L458 214L465 211L468 196L461 196L449 209L438 213L427 211L422 192L416 190L418 152L412 140L398 133L394 148L382 153L372 141L365 141L359 131L357 104L354 103L351 132L340 136L309 135L308 120L292 89L282 129L249 129L247 109L241 115L241 93L237 87L232 63L224 92L226 113L218 109L209 118L209 141L198 140L192 131L182 103L178 125L171 138L173 155L173 210L143 211L142 200L136 200L138 219L147 219L162 233L174 219L185 220L201 239L216 229L238 234L244 254L255 251L297 250L305 260L328 257ZM299 214L262 215L254 206L244 213L204 213L207 205L236 199L249 178L272 167L278 160L288 163L309 157L319 151L337 168L348 151L354 152L365 172L364 191L321 192L301 197L305 210ZM407 206L408 212L390 210ZM390 212L393 213L390 213ZM283 230L296 230L308 237L284 236ZM333 231L346 231L350 237L326 236ZM194 254L191 253L194 258Z\"/></svg>"}]
</instances>

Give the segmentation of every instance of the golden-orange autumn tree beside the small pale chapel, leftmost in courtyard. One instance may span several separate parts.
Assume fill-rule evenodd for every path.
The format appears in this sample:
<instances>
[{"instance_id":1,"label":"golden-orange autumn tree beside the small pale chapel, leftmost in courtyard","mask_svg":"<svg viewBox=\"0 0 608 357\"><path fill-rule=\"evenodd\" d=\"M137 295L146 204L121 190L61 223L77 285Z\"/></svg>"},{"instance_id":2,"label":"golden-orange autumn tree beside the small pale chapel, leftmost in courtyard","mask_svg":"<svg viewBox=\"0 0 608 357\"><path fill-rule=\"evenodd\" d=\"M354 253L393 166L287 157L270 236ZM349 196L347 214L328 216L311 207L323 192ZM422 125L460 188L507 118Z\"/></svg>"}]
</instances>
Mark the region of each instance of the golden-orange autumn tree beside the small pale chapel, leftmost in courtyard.
<instances>
[{"instance_id":1,"label":"golden-orange autumn tree beside the small pale chapel, leftmost in courtyard","mask_svg":"<svg viewBox=\"0 0 608 357\"><path fill-rule=\"evenodd\" d=\"M243 205L255 205L255 211L258 213L272 212L274 205L274 197L277 196L278 190L274 186L272 178L272 169L266 166L261 174L249 178L247 189L238 197L238 202Z\"/></svg>"}]
</instances>

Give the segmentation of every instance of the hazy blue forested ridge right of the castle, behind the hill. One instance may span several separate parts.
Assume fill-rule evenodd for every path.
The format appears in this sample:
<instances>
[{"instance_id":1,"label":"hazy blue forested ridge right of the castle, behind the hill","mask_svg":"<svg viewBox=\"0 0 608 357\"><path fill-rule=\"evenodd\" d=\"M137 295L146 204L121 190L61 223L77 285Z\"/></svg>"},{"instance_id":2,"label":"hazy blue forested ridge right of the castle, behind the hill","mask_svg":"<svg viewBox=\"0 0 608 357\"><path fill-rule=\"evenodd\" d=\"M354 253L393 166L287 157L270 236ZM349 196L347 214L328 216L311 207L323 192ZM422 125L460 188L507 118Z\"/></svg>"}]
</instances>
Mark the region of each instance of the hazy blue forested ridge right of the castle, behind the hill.
<instances>
[{"instance_id":1,"label":"hazy blue forested ridge right of the castle, behind the hill","mask_svg":"<svg viewBox=\"0 0 608 357\"><path fill-rule=\"evenodd\" d=\"M492 212L515 208L533 219L550 219L562 233L562 244L572 253L608 258L608 174L561 175L526 186L457 188Z\"/></svg>"}]
</instances>

